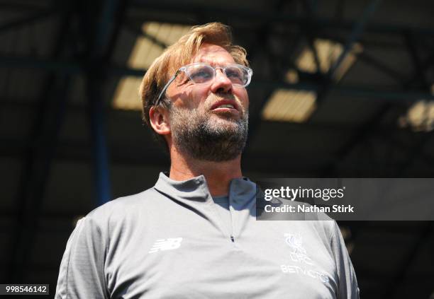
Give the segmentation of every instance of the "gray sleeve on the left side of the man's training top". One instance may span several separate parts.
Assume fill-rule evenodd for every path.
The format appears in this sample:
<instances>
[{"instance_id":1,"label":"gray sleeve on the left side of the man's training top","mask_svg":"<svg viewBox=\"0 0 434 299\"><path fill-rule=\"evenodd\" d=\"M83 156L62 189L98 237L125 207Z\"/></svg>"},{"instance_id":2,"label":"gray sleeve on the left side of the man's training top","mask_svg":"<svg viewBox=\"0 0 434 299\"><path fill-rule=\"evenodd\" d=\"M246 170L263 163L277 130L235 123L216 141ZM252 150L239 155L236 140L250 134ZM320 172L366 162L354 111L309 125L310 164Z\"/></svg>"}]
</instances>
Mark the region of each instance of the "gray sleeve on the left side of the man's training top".
<instances>
[{"instance_id":1,"label":"gray sleeve on the left side of the man's training top","mask_svg":"<svg viewBox=\"0 0 434 299\"><path fill-rule=\"evenodd\" d=\"M77 222L60 263L55 299L109 298L104 278L105 240L95 221Z\"/></svg>"}]
</instances>

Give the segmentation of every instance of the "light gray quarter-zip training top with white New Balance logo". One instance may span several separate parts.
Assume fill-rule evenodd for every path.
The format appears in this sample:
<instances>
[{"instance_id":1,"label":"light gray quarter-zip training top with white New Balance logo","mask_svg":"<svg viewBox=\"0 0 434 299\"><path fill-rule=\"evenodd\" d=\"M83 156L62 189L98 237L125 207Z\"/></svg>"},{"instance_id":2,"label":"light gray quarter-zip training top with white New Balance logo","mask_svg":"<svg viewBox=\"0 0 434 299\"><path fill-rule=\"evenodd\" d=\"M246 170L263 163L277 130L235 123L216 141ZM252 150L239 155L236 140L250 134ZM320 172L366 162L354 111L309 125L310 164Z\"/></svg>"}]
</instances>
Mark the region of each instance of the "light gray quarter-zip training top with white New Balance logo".
<instances>
[{"instance_id":1,"label":"light gray quarter-zip training top with white New Balance logo","mask_svg":"<svg viewBox=\"0 0 434 299\"><path fill-rule=\"evenodd\" d=\"M256 221L255 194L230 182L227 223L204 176L160 173L77 223L55 298L358 298L335 221Z\"/></svg>"}]
</instances>

